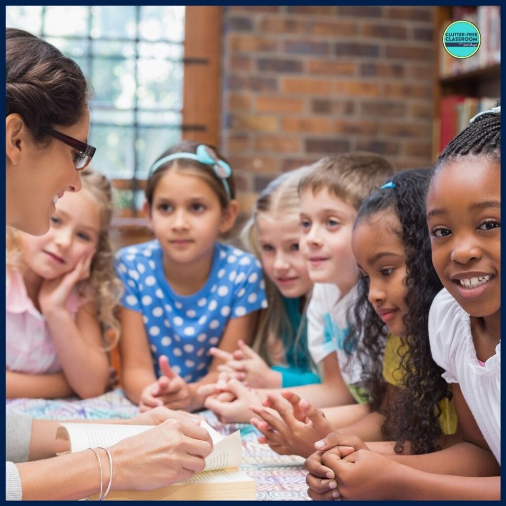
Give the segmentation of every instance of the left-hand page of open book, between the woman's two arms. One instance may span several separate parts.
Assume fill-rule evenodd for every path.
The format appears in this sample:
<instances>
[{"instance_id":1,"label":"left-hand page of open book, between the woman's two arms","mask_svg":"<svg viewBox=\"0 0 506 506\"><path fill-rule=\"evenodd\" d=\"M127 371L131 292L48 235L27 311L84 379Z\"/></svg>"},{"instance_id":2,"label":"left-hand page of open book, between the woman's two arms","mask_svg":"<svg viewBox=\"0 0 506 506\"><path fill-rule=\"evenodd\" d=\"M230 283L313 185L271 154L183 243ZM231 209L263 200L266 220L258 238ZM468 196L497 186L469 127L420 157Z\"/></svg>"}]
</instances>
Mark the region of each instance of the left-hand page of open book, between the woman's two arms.
<instances>
[{"instance_id":1,"label":"left-hand page of open book, between the woman's two arms","mask_svg":"<svg viewBox=\"0 0 506 506\"><path fill-rule=\"evenodd\" d=\"M57 438L68 435L70 451L83 451L97 446L108 446L119 443L122 439L141 434L153 425L116 425L116 424L60 424Z\"/></svg>"}]
</instances>

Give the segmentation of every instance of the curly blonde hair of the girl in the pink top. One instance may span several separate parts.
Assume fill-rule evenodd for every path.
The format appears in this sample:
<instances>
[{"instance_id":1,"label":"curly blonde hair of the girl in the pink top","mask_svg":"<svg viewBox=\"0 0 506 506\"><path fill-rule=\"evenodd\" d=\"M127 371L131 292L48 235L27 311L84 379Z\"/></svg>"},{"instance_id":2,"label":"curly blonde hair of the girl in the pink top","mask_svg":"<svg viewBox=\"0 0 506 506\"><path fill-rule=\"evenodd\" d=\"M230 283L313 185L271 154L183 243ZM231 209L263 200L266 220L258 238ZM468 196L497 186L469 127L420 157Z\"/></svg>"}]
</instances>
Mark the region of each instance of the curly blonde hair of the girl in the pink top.
<instances>
[{"instance_id":1,"label":"curly blonde hair of the girl in the pink top","mask_svg":"<svg viewBox=\"0 0 506 506\"><path fill-rule=\"evenodd\" d=\"M119 340L120 325L116 318L116 308L123 293L123 284L114 270L114 250L109 238L114 208L112 186L105 176L91 168L81 172L81 181L81 191L86 192L99 207L100 233L90 276L78 283L77 290L80 296L95 302L97 318L102 328L103 351L110 351ZM21 234L14 228L6 227L6 267L22 270L23 264Z\"/></svg>"}]
</instances>

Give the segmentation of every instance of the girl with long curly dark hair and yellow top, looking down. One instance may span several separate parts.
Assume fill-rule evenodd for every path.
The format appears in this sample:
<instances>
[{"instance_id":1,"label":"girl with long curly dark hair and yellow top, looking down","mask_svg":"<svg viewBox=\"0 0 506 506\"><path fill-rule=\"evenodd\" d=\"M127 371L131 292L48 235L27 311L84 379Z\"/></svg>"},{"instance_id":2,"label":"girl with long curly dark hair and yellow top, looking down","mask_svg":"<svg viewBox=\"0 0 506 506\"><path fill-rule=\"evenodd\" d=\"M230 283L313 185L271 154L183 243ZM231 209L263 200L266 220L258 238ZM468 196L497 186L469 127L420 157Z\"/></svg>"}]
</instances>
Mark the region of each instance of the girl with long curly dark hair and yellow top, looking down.
<instances>
[{"instance_id":1,"label":"girl with long curly dark hair and yellow top, looking down","mask_svg":"<svg viewBox=\"0 0 506 506\"><path fill-rule=\"evenodd\" d=\"M427 330L429 308L441 289L426 230L430 177L428 168L396 174L363 202L353 229L353 252L362 274L350 339L360 341L356 354L365 364L362 381L372 412L339 432L367 441L396 441L397 453L406 440L412 453L434 451L441 432L456 430L448 385L432 360ZM383 361L377 359L383 356ZM278 427L278 434L272 433L264 429L265 422L255 420L275 449L289 447L303 456L313 453L314 443L332 430L316 413L306 424L281 411L281 424L265 410L256 412ZM286 441L280 437L284 434Z\"/></svg>"}]
</instances>

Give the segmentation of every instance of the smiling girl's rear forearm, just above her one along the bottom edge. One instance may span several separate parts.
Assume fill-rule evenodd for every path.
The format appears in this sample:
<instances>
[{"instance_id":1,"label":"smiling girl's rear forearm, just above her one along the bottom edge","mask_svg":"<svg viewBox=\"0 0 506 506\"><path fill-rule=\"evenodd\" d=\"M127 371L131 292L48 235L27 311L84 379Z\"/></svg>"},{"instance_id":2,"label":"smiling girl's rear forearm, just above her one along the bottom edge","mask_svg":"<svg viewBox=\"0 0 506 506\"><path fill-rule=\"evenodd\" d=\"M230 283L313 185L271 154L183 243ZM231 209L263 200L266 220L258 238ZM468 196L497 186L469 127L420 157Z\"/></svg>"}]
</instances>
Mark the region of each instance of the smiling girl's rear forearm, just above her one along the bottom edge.
<instances>
[{"instance_id":1,"label":"smiling girl's rear forearm, just above her one along the bottom edge","mask_svg":"<svg viewBox=\"0 0 506 506\"><path fill-rule=\"evenodd\" d=\"M424 455L389 455L389 458L433 474L482 477L500 474L500 466L492 452L473 443L458 443Z\"/></svg>"}]
</instances>

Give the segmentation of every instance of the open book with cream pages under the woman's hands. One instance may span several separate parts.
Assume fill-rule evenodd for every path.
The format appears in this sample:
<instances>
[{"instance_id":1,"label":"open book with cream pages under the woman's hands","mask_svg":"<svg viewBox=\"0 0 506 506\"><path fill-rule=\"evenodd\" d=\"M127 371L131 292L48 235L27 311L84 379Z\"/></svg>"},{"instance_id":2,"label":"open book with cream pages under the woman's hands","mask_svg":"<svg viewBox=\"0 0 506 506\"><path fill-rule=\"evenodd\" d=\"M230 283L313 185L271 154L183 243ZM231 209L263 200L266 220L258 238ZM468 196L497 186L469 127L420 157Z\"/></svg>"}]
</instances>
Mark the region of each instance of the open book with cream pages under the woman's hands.
<instances>
[{"instance_id":1,"label":"open book with cream pages under the woman's hands","mask_svg":"<svg viewBox=\"0 0 506 506\"><path fill-rule=\"evenodd\" d=\"M70 451L112 446L122 439L153 429L152 425L60 424L57 438L68 439ZM235 431L223 437L202 421L214 449L205 469L191 478L151 491L111 490L105 500L255 500L255 480L239 471L241 436ZM98 499L98 495L91 497Z\"/></svg>"}]
</instances>

